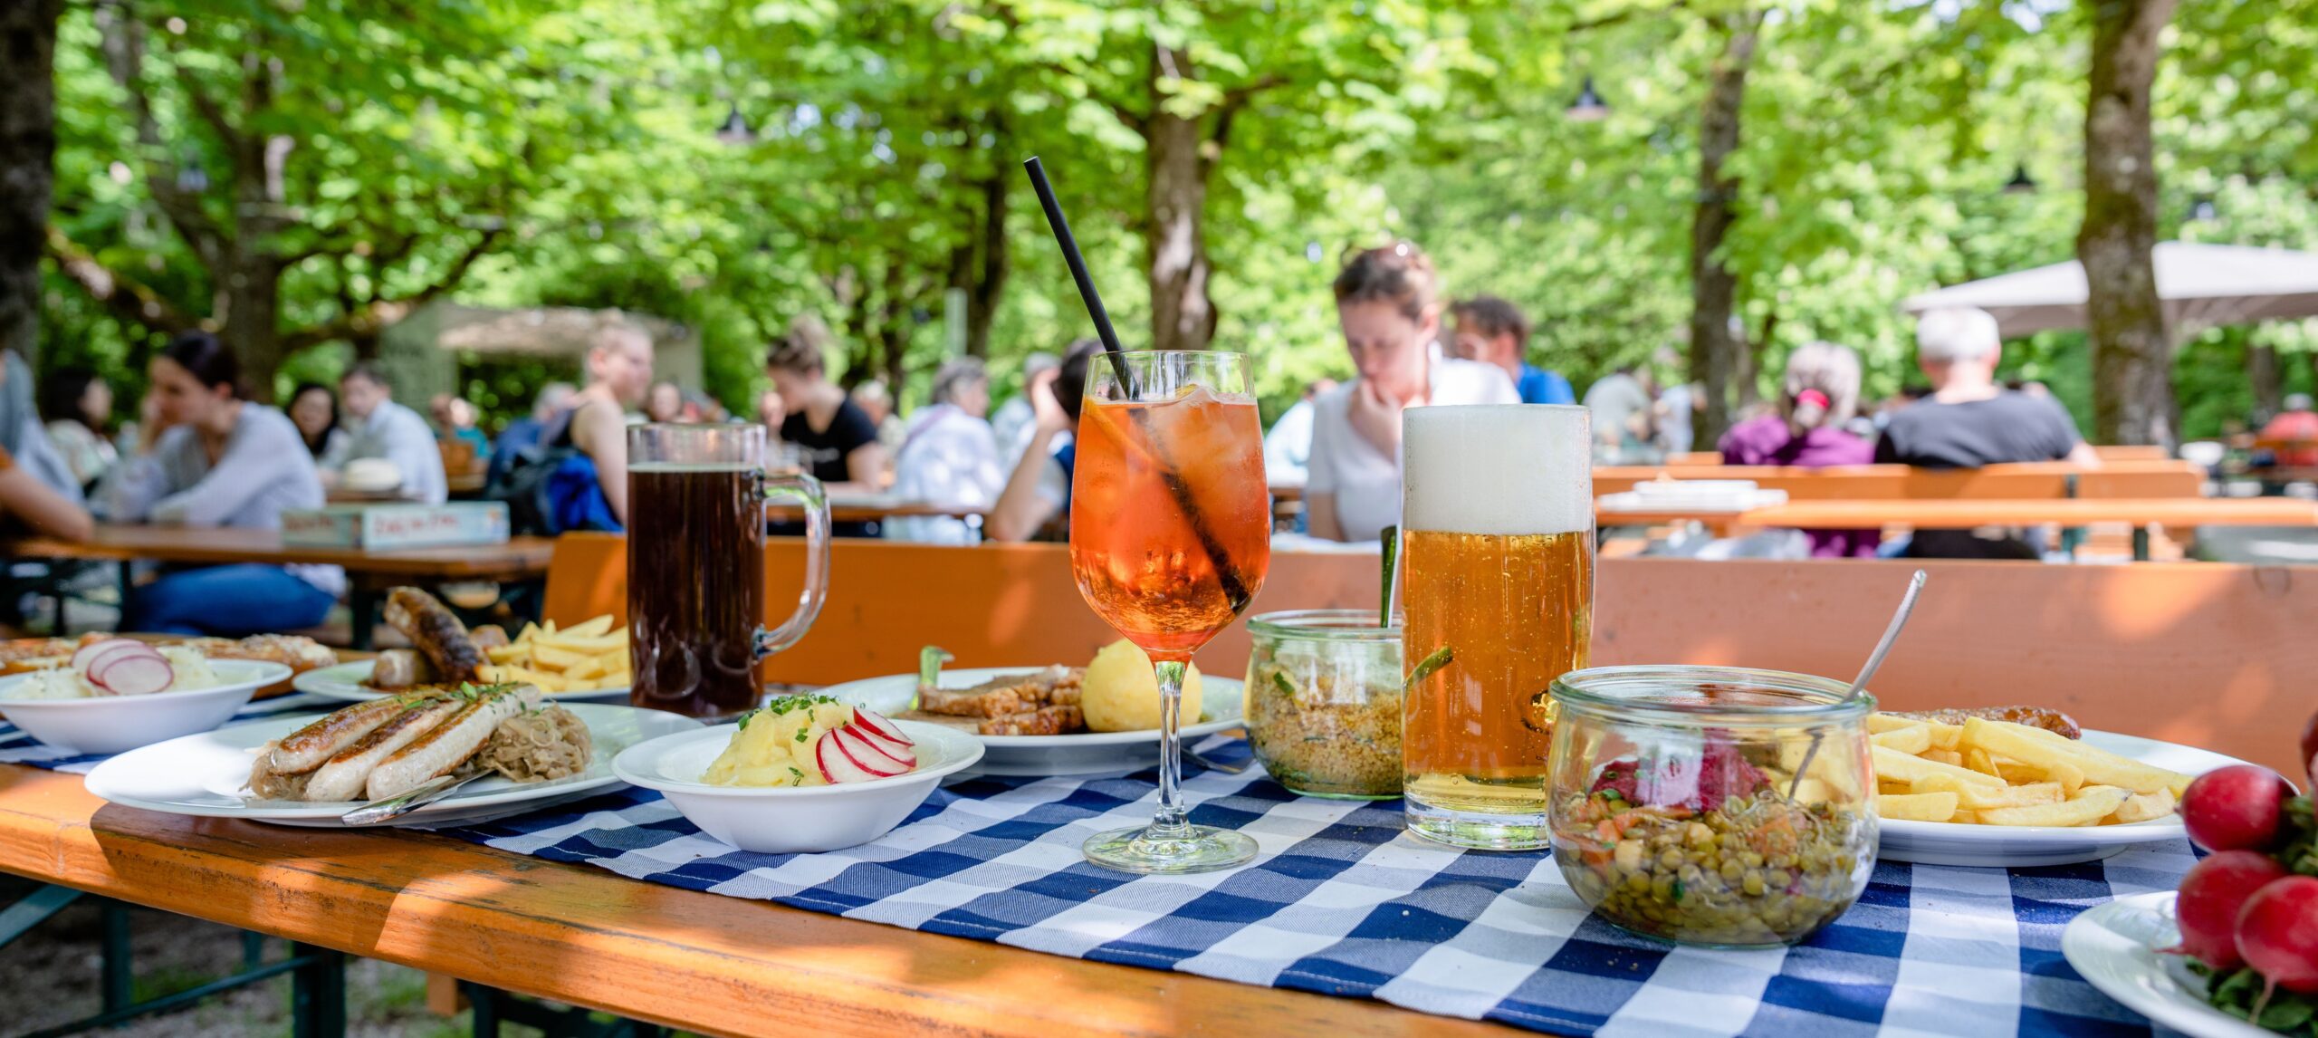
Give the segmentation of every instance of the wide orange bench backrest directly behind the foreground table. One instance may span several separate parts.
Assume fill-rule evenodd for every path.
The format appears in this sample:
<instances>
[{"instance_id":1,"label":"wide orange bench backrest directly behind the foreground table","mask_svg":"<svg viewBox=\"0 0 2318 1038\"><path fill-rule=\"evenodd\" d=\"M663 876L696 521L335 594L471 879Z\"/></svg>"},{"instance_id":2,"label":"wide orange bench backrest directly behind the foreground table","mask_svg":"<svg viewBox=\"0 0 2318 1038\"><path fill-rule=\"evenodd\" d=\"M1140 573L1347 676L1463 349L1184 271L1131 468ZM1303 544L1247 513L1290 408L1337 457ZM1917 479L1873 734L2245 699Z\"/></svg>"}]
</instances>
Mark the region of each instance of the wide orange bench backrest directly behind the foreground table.
<instances>
[{"instance_id":1,"label":"wide orange bench backrest directly behind the foreground table","mask_svg":"<svg viewBox=\"0 0 2318 1038\"><path fill-rule=\"evenodd\" d=\"M774 540L767 602L786 614L804 544ZM1604 558L1595 663L1729 663L1847 679L1915 563L1697 563ZM2221 563L1924 563L1931 584L1875 681L1887 709L2065 709L2089 728L2207 746L2297 772L2318 709L2318 570ZM619 538L566 535L547 577L559 623L624 614ZM1252 612L1375 607L1375 556L1275 554ZM779 616L774 616L779 619ZM916 670L918 646L960 667L1083 660L1115 635L1078 598L1059 544L976 549L841 542L830 602L777 681ZM1245 623L1201 667L1247 665ZM2290 774L2293 774L2290 772Z\"/></svg>"}]
</instances>

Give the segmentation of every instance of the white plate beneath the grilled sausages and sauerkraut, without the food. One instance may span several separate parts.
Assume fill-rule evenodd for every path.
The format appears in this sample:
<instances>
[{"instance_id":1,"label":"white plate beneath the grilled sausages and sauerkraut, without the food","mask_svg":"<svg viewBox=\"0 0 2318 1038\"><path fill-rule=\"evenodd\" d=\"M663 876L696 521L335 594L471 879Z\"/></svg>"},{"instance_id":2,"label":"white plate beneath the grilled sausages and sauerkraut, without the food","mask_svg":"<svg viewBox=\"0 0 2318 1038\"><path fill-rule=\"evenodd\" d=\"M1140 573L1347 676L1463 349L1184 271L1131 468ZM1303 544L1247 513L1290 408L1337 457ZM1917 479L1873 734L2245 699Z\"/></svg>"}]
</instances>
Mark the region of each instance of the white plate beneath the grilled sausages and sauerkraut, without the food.
<instances>
[{"instance_id":1,"label":"white plate beneath the grilled sausages and sauerkraut, without the food","mask_svg":"<svg viewBox=\"0 0 2318 1038\"><path fill-rule=\"evenodd\" d=\"M656 709L589 702L568 702L563 707L577 714L586 723L589 737L596 739L596 758L586 772L545 783L515 783L498 776L478 778L459 792L399 818L394 825L468 825L605 792L619 785L619 778L612 776L612 758L621 751L670 732L700 728L693 718ZM306 728L315 716L267 718L123 753L88 772L88 792L121 806L141 806L176 816L338 827L338 816L357 804L246 797L255 751L269 739Z\"/></svg>"}]
</instances>

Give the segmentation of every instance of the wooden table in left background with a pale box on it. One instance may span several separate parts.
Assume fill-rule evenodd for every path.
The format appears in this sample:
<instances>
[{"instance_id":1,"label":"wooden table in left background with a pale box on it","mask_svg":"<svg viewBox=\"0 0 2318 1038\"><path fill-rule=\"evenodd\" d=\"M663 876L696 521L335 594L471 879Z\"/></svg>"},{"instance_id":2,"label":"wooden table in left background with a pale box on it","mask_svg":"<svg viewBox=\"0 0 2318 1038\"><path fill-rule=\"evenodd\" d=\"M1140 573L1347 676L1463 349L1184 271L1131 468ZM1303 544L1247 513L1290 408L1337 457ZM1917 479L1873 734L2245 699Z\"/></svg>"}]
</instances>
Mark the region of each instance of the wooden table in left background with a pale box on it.
<instances>
[{"instance_id":1,"label":"wooden table in left background with a pale box on it","mask_svg":"<svg viewBox=\"0 0 2318 1038\"><path fill-rule=\"evenodd\" d=\"M283 544L280 533L274 531L100 524L86 542L16 538L0 542L0 556L118 561L123 600L127 600L130 591L130 563L137 561L190 565L338 565L348 577L355 649L369 649L371 630L378 623L380 591L394 584L545 577L547 561L554 556L554 540L510 538L505 544L364 551Z\"/></svg>"}]
</instances>

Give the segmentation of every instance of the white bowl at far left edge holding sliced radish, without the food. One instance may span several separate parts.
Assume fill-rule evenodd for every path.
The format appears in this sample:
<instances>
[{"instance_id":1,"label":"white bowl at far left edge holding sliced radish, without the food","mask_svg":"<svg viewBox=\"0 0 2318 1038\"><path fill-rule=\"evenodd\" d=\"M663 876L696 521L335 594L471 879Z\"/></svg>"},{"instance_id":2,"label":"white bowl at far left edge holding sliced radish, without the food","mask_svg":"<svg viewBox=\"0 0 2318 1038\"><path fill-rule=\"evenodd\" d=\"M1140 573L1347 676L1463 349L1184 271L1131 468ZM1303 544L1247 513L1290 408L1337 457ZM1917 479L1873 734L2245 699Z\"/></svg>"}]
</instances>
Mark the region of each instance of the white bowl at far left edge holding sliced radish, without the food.
<instances>
[{"instance_id":1,"label":"white bowl at far left edge holding sliced radish, without the food","mask_svg":"<svg viewBox=\"0 0 2318 1038\"><path fill-rule=\"evenodd\" d=\"M264 660L209 660L209 670L218 674L216 688L95 700L9 700L16 686L32 679L12 674L0 679L0 716L49 746L121 753L218 728L260 688L290 677L290 667Z\"/></svg>"}]
</instances>

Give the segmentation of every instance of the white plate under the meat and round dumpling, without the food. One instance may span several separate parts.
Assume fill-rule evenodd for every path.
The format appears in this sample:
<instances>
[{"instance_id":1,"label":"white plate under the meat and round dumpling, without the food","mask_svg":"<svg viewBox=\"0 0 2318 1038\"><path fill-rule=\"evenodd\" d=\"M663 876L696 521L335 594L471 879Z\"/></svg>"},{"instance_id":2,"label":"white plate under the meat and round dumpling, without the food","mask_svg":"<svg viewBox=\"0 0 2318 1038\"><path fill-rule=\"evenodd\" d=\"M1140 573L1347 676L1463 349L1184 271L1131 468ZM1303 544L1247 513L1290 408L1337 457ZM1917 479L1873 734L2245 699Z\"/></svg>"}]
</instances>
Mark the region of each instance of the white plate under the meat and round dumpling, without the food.
<instances>
[{"instance_id":1,"label":"white plate under the meat and round dumpling, without the food","mask_svg":"<svg viewBox=\"0 0 2318 1038\"><path fill-rule=\"evenodd\" d=\"M941 688L974 688L1001 674L1029 674L1032 667L967 667L943 670ZM1184 746L1215 732L1240 728L1240 681L1231 677L1201 674L1201 718L1182 725ZM895 716L909 709L918 693L918 674L872 677L823 688L823 695L851 707L869 707ZM936 725L939 728L939 725ZM1080 732L1080 734L974 734L981 739L983 762L976 774L1096 774L1134 772L1159 762L1159 730L1147 732Z\"/></svg>"}]
</instances>

